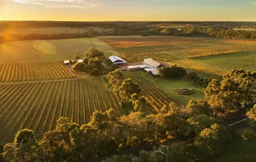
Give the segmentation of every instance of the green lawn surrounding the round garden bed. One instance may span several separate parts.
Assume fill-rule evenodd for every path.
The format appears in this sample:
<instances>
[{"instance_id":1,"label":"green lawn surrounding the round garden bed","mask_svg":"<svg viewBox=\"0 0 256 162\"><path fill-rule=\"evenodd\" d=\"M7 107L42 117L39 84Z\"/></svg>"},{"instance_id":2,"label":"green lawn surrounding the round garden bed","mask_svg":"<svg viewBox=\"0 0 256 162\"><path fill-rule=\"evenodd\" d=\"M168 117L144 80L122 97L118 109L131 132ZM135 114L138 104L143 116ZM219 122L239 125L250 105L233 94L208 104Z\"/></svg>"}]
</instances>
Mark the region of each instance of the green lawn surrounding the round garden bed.
<instances>
[{"instance_id":1,"label":"green lawn surrounding the round garden bed","mask_svg":"<svg viewBox=\"0 0 256 162\"><path fill-rule=\"evenodd\" d=\"M189 100L198 100L204 98L204 91L203 87L196 86L192 82L187 81L187 79L177 79L177 80L165 80L165 79L157 79L157 81L154 81L151 76L147 75L143 71L141 71L142 74L145 74L145 76L150 82L152 82L154 85L156 85L160 90L165 92L168 96L170 96L172 99L174 99L176 102L178 102L181 105L187 105ZM172 92L172 89L179 89L179 88L193 88L194 94L191 95L179 95Z\"/></svg>"}]
</instances>

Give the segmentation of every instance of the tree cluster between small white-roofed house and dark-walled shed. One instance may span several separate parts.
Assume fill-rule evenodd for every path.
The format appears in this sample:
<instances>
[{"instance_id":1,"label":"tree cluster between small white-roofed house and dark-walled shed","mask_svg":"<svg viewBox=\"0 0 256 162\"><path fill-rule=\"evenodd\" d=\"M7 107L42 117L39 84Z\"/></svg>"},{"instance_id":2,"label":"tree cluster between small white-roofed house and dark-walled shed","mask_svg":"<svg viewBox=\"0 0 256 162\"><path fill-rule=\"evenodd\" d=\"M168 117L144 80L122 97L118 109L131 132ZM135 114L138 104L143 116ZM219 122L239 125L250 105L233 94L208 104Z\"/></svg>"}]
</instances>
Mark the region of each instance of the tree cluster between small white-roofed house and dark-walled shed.
<instances>
[{"instance_id":1,"label":"tree cluster between small white-roofed house and dark-walled shed","mask_svg":"<svg viewBox=\"0 0 256 162\"><path fill-rule=\"evenodd\" d=\"M104 66L102 65L103 56L103 52L98 51L96 48L90 48L84 54L83 62L77 62L72 69L86 72L91 75L100 75L104 70ZM80 57L75 54L74 59L75 58L77 59Z\"/></svg>"}]
</instances>

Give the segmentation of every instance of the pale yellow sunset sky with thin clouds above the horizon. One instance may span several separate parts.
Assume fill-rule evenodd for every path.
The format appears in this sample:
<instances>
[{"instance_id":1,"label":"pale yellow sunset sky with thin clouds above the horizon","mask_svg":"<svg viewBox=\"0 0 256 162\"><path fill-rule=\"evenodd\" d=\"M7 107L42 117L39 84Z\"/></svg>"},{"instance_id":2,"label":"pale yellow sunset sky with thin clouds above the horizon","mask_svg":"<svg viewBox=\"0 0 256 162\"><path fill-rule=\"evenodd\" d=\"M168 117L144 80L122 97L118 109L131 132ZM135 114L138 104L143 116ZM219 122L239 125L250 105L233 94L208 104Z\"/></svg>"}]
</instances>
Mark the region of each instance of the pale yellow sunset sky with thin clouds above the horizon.
<instances>
[{"instance_id":1,"label":"pale yellow sunset sky with thin clouds above the horizon","mask_svg":"<svg viewBox=\"0 0 256 162\"><path fill-rule=\"evenodd\" d=\"M256 0L0 0L0 20L256 21Z\"/></svg>"}]
</instances>

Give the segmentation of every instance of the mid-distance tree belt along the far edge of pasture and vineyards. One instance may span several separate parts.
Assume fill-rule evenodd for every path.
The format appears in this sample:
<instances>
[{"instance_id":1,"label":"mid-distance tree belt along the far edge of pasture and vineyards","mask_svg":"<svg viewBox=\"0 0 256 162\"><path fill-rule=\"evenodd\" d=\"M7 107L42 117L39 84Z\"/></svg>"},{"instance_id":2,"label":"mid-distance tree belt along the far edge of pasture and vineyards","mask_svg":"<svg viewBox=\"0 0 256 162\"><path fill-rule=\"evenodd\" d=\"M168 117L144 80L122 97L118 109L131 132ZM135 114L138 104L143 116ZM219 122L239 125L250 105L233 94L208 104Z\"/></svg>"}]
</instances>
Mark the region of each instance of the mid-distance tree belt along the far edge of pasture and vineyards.
<instances>
[{"instance_id":1,"label":"mid-distance tree belt along the far edge of pasture and vineyards","mask_svg":"<svg viewBox=\"0 0 256 162\"><path fill-rule=\"evenodd\" d=\"M87 22L87 23L92 23L92 22ZM103 22L98 22L98 23L103 24ZM0 42L18 41L18 40L38 40L38 39L88 38L93 36L105 36L105 35L113 35L113 36L164 35L164 36L178 36L178 37L179 36L184 36L184 37L201 36L201 37L212 37L212 38L222 38L222 39L256 41L256 31L230 30L232 29L231 27L224 27L224 26L220 26L220 27L184 26L184 27L181 27L180 29L176 29L171 27L147 26L145 24L129 24L127 22L125 23L118 22L118 23L119 24L117 26L112 28L113 29L112 31L102 30L101 32L99 32L91 28L84 33L80 33L80 32L57 33L57 34L50 34L50 35L39 34L39 33L27 34L27 35L8 34L8 35L3 35L2 38L0 36Z\"/></svg>"}]
</instances>

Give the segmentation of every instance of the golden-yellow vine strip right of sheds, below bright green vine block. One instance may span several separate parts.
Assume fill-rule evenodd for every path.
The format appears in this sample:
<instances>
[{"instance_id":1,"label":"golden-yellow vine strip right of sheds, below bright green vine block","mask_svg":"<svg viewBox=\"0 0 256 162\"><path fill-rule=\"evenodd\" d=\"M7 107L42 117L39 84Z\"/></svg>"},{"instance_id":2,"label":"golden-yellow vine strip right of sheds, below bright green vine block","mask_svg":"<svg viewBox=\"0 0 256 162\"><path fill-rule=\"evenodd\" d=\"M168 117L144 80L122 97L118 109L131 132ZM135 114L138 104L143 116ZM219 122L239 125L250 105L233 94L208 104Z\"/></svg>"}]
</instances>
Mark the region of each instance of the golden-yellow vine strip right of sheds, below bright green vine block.
<instances>
[{"instance_id":1,"label":"golden-yellow vine strip right of sheds, below bright green vine block","mask_svg":"<svg viewBox=\"0 0 256 162\"><path fill-rule=\"evenodd\" d=\"M170 61L168 64L173 65L179 65L184 67L187 71L194 71L197 73L199 77L202 78L216 78L216 79L222 79L222 76L227 73L225 70L221 70L209 65L205 65L202 63L198 63L196 61L192 60L177 60L177 61Z\"/></svg>"}]
</instances>

